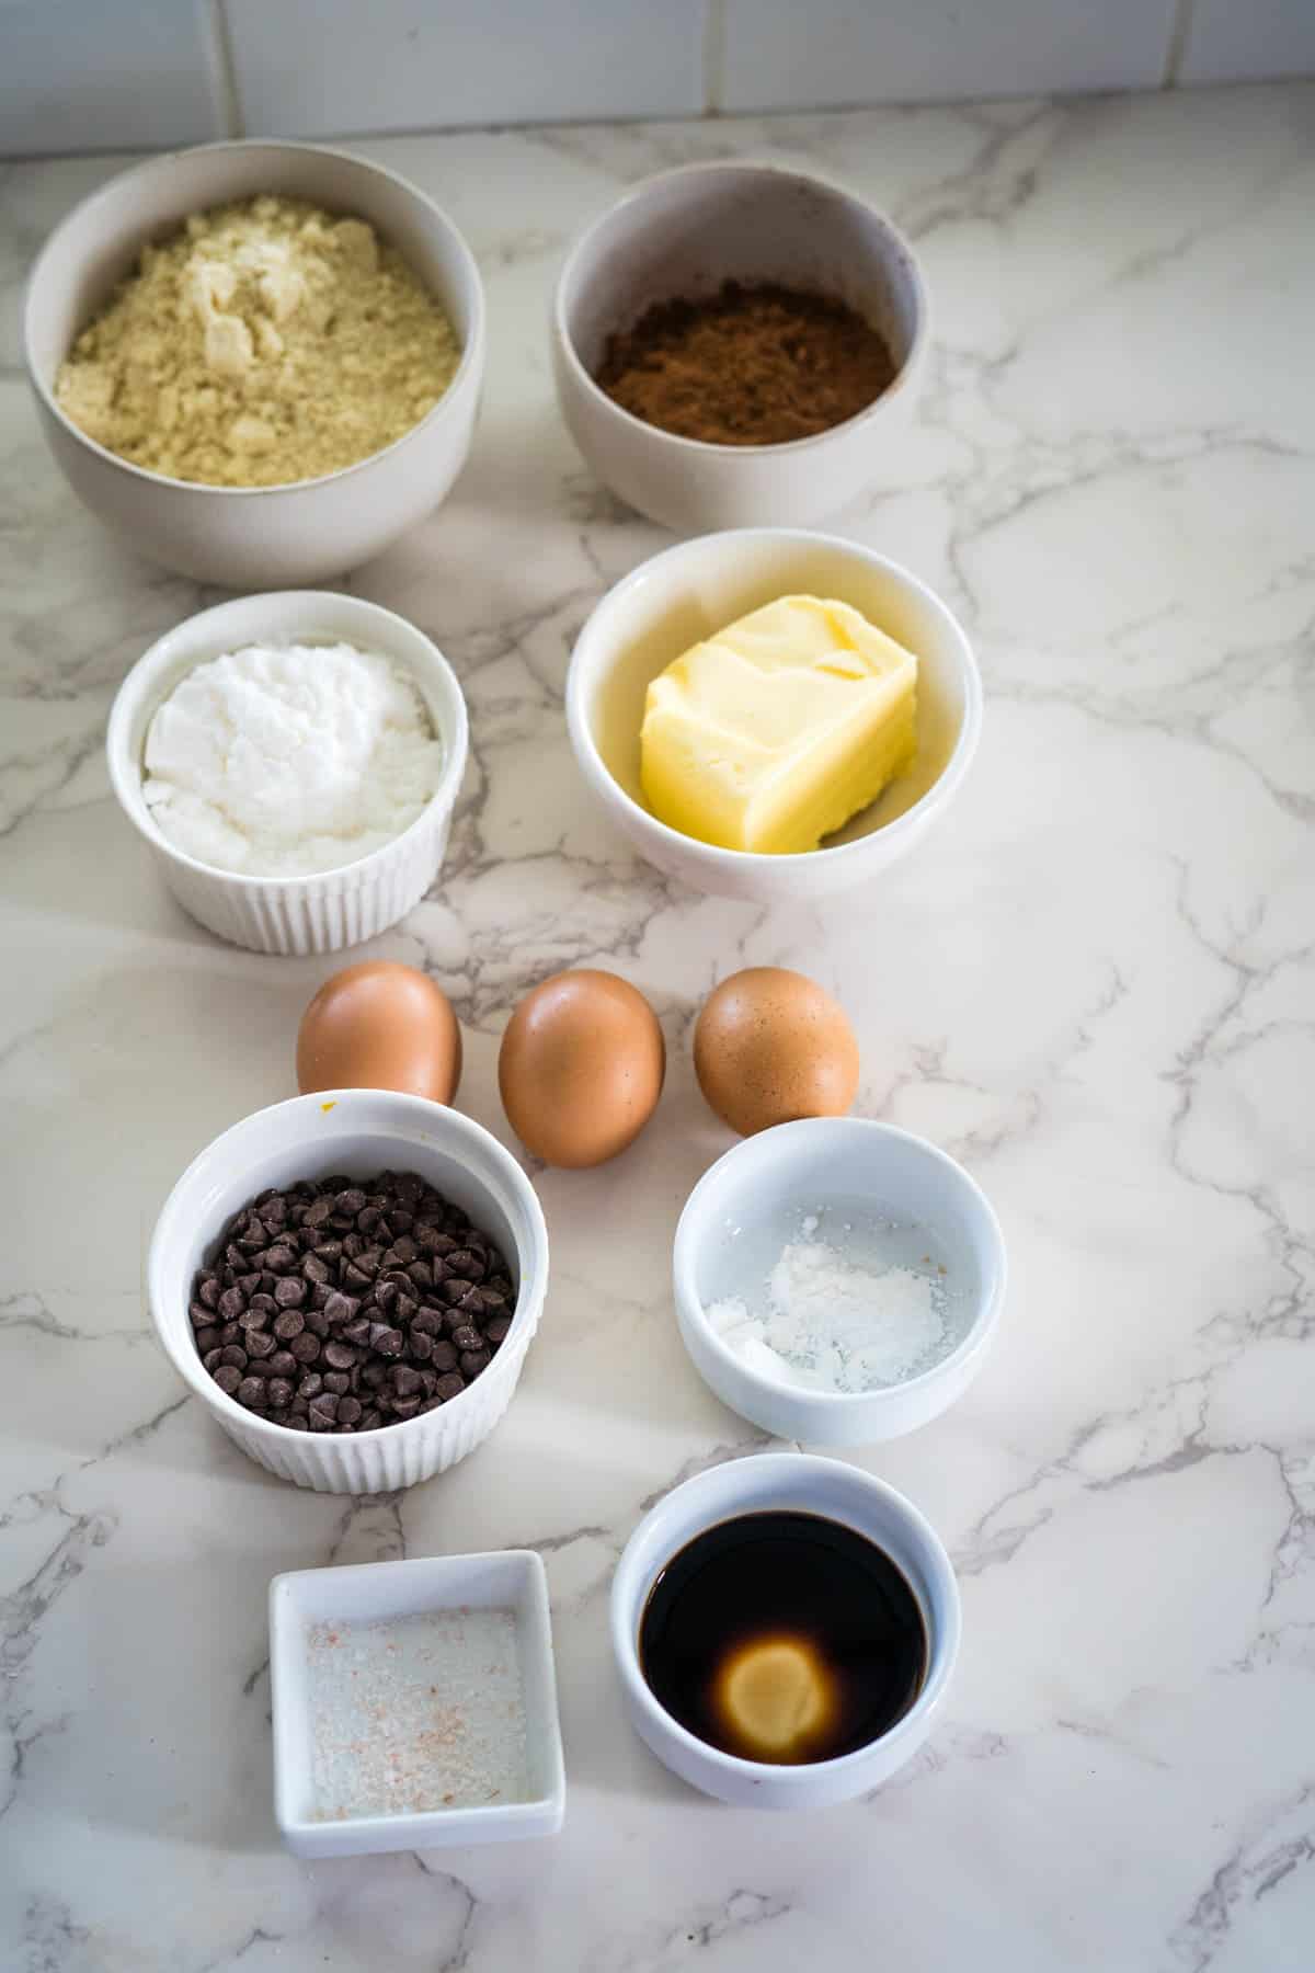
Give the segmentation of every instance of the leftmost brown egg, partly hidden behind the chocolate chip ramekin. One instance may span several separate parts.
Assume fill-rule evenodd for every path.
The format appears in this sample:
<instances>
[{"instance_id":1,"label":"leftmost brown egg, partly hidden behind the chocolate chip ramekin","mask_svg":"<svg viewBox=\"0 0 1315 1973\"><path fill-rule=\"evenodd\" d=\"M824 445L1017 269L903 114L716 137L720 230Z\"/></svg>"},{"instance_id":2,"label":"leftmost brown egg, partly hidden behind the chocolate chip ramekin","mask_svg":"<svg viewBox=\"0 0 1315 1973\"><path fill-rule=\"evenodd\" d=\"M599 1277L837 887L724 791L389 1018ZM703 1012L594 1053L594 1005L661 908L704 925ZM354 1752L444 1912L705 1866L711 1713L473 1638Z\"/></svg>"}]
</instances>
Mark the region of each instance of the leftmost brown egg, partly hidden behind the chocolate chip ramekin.
<instances>
[{"instance_id":1,"label":"leftmost brown egg, partly hidden behind the chocolate chip ramekin","mask_svg":"<svg viewBox=\"0 0 1315 1973\"><path fill-rule=\"evenodd\" d=\"M451 1103L461 1028L451 1000L416 967L367 959L327 979L302 1014L298 1089L402 1089Z\"/></svg>"}]
</instances>

